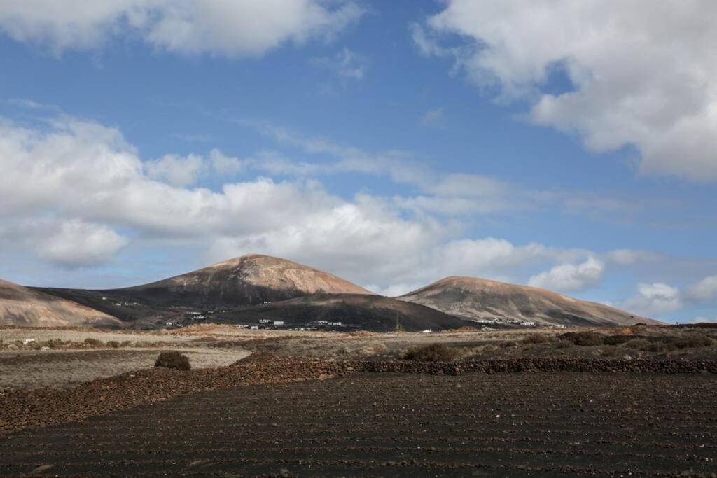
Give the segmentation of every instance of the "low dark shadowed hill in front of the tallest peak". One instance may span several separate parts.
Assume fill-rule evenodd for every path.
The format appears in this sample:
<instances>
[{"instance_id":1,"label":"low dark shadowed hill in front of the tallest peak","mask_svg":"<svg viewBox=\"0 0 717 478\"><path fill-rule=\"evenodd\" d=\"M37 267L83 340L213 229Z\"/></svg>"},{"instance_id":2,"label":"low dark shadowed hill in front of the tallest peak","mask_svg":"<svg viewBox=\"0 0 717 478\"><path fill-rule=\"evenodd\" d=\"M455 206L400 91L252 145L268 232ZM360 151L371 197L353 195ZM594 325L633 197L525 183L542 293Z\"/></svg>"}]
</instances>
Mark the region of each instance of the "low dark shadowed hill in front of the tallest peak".
<instances>
[{"instance_id":1,"label":"low dark shadowed hill in front of the tallest peak","mask_svg":"<svg viewBox=\"0 0 717 478\"><path fill-rule=\"evenodd\" d=\"M397 323L408 332L447 330L470 325L470 322L423 305L380 295L359 294L310 295L243 307L213 318L215 321L225 323L257 323L262 319L279 320L285 322L285 325L308 324L323 320L341 322L344 326L377 332L394 330Z\"/></svg>"}]
</instances>

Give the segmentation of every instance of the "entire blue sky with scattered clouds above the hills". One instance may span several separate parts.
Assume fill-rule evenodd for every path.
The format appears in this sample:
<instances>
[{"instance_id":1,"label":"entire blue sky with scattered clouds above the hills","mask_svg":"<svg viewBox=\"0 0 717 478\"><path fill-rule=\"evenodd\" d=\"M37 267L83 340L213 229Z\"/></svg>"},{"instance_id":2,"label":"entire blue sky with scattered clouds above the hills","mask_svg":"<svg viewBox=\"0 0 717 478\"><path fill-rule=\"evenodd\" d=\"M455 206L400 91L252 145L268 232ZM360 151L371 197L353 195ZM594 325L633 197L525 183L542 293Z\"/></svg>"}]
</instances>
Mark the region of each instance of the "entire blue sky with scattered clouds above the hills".
<instances>
[{"instance_id":1,"label":"entire blue sky with scattered clouds above the hills","mask_svg":"<svg viewBox=\"0 0 717 478\"><path fill-rule=\"evenodd\" d=\"M711 0L0 0L0 277L250 252L717 320Z\"/></svg>"}]
</instances>

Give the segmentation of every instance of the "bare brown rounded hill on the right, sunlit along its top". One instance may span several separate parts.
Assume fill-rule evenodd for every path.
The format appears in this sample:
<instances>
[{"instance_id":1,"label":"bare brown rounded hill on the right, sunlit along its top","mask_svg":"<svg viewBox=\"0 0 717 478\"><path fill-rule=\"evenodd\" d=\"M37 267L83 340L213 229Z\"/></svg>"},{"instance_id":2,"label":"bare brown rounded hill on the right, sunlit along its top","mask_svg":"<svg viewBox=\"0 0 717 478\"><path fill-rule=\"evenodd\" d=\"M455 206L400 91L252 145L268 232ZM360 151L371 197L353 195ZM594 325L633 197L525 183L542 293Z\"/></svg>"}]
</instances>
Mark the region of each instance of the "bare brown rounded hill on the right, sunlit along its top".
<instances>
[{"instance_id":1,"label":"bare brown rounded hill on the right, sunlit along its top","mask_svg":"<svg viewBox=\"0 0 717 478\"><path fill-rule=\"evenodd\" d=\"M474 277L446 277L398 299L469 320L521 320L563 325L660 323L548 290Z\"/></svg>"}]
</instances>

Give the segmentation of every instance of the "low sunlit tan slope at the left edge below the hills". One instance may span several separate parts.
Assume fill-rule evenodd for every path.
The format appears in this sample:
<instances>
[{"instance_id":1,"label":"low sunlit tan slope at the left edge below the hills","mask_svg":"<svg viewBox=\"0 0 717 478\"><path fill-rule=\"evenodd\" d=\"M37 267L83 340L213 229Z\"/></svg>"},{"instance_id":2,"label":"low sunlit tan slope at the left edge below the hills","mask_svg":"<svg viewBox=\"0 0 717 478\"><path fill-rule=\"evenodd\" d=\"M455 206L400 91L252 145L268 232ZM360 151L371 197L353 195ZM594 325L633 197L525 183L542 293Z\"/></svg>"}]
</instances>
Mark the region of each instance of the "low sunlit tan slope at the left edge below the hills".
<instances>
[{"instance_id":1,"label":"low sunlit tan slope at the left edge below the hills","mask_svg":"<svg viewBox=\"0 0 717 478\"><path fill-rule=\"evenodd\" d=\"M62 327L119 324L119 320L104 312L0 280L0 325Z\"/></svg>"}]
</instances>

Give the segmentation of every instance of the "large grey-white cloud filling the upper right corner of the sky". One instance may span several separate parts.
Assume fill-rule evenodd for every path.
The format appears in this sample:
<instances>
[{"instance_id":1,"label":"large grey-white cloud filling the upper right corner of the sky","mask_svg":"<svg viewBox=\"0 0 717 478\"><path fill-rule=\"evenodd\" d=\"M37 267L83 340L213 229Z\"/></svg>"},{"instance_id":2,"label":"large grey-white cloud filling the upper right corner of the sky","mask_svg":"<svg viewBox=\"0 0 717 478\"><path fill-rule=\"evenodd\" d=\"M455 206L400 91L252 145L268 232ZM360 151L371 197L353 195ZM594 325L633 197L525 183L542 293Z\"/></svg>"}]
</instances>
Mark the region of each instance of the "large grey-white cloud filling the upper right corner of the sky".
<instances>
[{"instance_id":1,"label":"large grey-white cloud filling the upper right corner of the sky","mask_svg":"<svg viewBox=\"0 0 717 478\"><path fill-rule=\"evenodd\" d=\"M716 16L710 0L450 0L413 34L589 150L635 145L643 173L717 181ZM441 34L465 43L442 46ZM555 72L573 89L545 92Z\"/></svg>"}]
</instances>

